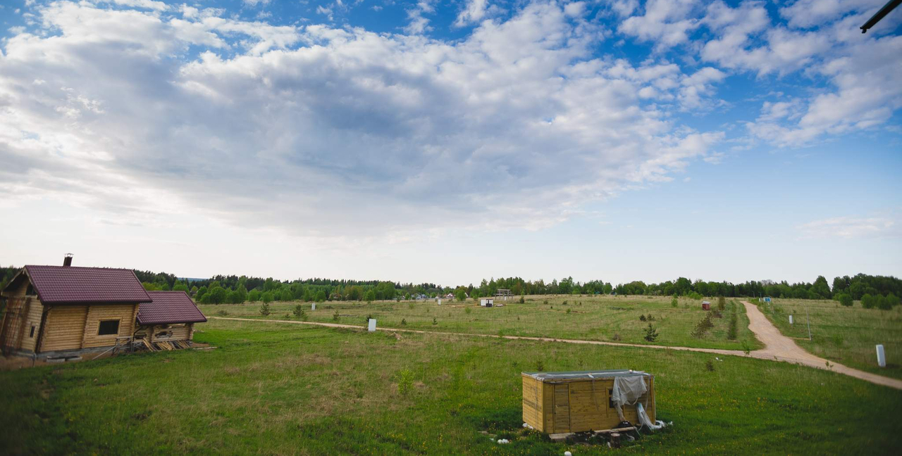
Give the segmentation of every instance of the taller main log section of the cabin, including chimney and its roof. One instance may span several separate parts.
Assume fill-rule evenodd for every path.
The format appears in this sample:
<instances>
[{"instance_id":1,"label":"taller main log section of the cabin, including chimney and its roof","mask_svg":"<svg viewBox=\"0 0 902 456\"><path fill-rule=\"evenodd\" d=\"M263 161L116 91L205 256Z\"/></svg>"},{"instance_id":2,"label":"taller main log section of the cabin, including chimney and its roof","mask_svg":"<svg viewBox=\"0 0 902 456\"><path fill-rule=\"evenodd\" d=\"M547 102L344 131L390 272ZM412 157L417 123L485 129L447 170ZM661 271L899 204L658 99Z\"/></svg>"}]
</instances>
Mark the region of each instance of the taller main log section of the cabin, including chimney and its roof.
<instances>
[{"instance_id":1,"label":"taller main log section of the cabin, including chimney and its roof","mask_svg":"<svg viewBox=\"0 0 902 456\"><path fill-rule=\"evenodd\" d=\"M109 347L131 340L138 306L151 302L131 269L25 266L5 300L0 348L44 353Z\"/></svg>"}]
</instances>

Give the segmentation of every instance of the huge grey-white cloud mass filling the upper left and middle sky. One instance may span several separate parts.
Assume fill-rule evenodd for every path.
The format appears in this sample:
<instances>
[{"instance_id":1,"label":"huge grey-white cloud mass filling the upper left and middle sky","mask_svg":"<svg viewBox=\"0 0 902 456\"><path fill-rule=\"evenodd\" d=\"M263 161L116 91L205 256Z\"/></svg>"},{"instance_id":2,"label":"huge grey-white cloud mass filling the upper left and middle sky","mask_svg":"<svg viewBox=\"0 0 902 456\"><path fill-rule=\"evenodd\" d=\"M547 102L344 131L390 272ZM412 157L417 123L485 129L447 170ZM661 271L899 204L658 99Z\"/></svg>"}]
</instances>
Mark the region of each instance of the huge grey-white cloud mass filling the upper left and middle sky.
<instances>
[{"instance_id":1,"label":"huge grey-white cloud mass filling the upper left and middle sky","mask_svg":"<svg viewBox=\"0 0 902 456\"><path fill-rule=\"evenodd\" d=\"M2 198L332 238L539 229L723 141L637 95L719 75L595 59L600 28L556 4L455 42L188 11L46 5L59 34L6 41Z\"/></svg>"}]
</instances>

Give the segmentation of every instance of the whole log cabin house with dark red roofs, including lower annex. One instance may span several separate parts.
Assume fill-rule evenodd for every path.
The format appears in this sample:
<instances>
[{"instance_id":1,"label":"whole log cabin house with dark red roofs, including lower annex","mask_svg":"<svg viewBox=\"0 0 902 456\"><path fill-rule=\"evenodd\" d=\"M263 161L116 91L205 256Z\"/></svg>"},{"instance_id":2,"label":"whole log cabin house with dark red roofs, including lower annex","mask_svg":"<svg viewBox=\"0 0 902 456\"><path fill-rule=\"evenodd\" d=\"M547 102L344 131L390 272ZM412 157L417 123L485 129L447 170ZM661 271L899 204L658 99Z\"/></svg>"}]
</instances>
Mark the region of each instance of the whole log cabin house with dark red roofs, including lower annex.
<instances>
[{"instance_id":1,"label":"whole log cabin house with dark red roofs, including lower annex","mask_svg":"<svg viewBox=\"0 0 902 456\"><path fill-rule=\"evenodd\" d=\"M4 354L106 350L154 331L190 340L193 324L207 321L184 292L148 293L131 269L78 268L71 261L67 255L63 266L25 266L0 291Z\"/></svg>"}]
</instances>

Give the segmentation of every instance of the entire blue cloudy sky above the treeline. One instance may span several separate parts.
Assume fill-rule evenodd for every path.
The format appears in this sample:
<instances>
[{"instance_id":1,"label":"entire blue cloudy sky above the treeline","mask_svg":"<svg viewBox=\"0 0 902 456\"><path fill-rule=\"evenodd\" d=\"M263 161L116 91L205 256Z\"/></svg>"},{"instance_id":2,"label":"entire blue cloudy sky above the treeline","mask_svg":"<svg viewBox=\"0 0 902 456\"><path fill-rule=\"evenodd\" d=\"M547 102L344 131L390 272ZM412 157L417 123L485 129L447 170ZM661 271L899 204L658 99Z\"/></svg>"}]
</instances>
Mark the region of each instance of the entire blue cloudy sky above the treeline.
<instances>
[{"instance_id":1,"label":"entire blue cloudy sky above the treeline","mask_svg":"<svg viewBox=\"0 0 902 456\"><path fill-rule=\"evenodd\" d=\"M8 0L0 264L902 275L884 0Z\"/></svg>"}]
</instances>

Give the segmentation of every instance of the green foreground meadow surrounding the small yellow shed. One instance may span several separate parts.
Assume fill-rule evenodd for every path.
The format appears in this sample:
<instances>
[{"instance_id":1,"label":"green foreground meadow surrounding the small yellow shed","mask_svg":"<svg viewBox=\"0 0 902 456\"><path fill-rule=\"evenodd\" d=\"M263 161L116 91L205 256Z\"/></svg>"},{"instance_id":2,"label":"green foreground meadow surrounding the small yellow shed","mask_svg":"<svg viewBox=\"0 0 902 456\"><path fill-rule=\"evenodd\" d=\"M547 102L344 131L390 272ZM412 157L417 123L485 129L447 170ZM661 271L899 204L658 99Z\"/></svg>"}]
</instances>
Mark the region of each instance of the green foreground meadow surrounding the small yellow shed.
<instances>
[{"instance_id":1,"label":"green foreground meadow surrounding the small yellow shed","mask_svg":"<svg viewBox=\"0 0 902 456\"><path fill-rule=\"evenodd\" d=\"M624 453L890 453L902 445L902 423L892 418L902 391L788 363L262 322L215 320L199 330L198 342L216 350L0 372L4 452L608 451L521 434L520 371L539 363L656 375L658 418L674 425Z\"/></svg>"}]
</instances>

